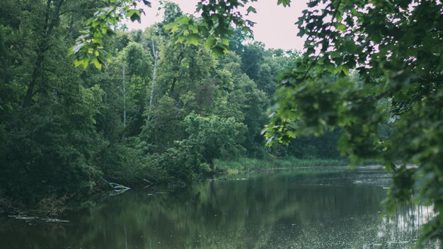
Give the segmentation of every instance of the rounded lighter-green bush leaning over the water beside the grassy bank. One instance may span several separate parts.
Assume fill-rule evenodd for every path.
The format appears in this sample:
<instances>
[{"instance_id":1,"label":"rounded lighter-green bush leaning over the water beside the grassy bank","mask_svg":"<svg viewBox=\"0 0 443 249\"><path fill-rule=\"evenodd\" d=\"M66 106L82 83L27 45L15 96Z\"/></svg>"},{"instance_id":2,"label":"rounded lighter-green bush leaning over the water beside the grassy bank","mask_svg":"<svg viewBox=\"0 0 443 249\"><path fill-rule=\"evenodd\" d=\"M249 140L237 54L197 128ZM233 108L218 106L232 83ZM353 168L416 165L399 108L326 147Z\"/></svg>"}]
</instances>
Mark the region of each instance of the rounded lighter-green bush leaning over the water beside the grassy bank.
<instances>
[{"instance_id":1,"label":"rounded lighter-green bush leaning over the water beside the grassy bank","mask_svg":"<svg viewBox=\"0 0 443 249\"><path fill-rule=\"evenodd\" d=\"M184 122L188 137L159 155L159 164L165 166L171 183L189 183L211 173L215 158L243 155L241 142L247 128L234 117L202 117L192 112Z\"/></svg>"}]
</instances>

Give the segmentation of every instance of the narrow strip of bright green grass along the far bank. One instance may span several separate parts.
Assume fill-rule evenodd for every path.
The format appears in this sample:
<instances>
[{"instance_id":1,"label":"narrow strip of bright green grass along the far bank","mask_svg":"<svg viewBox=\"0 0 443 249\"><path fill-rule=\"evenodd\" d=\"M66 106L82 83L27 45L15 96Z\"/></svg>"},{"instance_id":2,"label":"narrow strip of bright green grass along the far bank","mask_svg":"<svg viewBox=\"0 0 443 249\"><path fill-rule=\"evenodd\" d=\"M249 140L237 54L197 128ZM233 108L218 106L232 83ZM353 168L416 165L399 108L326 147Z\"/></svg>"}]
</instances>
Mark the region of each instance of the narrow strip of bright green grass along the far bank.
<instances>
[{"instance_id":1,"label":"narrow strip of bright green grass along the far bank","mask_svg":"<svg viewBox=\"0 0 443 249\"><path fill-rule=\"evenodd\" d=\"M236 160L216 160L215 168L228 173L248 170L265 170L272 168L326 167L347 166L347 159L299 159L293 157L275 159L238 158Z\"/></svg>"}]
</instances>

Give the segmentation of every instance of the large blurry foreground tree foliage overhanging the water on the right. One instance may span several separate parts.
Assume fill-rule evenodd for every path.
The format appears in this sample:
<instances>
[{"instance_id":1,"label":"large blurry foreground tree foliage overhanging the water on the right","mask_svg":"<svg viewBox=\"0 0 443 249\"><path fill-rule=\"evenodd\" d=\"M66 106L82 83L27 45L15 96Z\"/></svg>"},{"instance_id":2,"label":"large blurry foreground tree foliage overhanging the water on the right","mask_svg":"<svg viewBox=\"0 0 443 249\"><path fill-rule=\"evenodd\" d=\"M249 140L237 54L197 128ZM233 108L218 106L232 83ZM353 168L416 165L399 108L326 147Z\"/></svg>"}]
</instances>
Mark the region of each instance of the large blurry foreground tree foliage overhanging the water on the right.
<instances>
[{"instance_id":1,"label":"large blurry foreground tree foliage overhanging the water on the right","mask_svg":"<svg viewBox=\"0 0 443 249\"><path fill-rule=\"evenodd\" d=\"M344 129L344 155L354 163L377 158L394 170L389 210L410 197L435 208L420 245L442 239L442 3L333 0L308 6L298 22L306 52L280 78L265 129L269 144Z\"/></svg>"}]
</instances>

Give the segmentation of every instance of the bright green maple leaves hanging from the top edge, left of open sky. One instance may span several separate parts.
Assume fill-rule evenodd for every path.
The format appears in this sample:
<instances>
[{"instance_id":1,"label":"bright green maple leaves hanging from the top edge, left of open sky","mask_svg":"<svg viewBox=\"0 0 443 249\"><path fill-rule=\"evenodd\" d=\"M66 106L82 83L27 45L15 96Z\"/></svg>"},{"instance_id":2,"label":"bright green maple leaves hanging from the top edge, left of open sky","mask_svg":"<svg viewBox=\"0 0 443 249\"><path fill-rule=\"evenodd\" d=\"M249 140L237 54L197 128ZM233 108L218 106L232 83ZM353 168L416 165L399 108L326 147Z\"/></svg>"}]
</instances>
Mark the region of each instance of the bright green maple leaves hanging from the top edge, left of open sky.
<instances>
[{"instance_id":1,"label":"bright green maple leaves hanging from the top edge, left of open sky","mask_svg":"<svg viewBox=\"0 0 443 249\"><path fill-rule=\"evenodd\" d=\"M243 18L241 8L246 8L246 4L256 0L226 0L226 1L199 1L196 12L200 17L193 15L180 16L168 20L164 28L173 33L173 42L187 42L197 45L204 43L205 46L214 52L216 56L226 54L229 50L229 35L233 34L231 25L240 28L243 32L251 33L254 22ZM76 45L70 48L69 54L75 54L76 66L94 64L101 69L105 64L106 52L103 50L103 35L113 34L115 27L122 18L129 18L131 21L139 21L144 11L137 8L136 0L105 0L103 8L99 8L93 17L86 21L86 27L81 31ZM143 0L145 6L150 7L150 1ZM172 5L168 2L162 3L164 8ZM279 0L278 4L288 6L288 1ZM256 13L253 6L246 8L248 13ZM173 21L173 22L171 22Z\"/></svg>"}]
</instances>

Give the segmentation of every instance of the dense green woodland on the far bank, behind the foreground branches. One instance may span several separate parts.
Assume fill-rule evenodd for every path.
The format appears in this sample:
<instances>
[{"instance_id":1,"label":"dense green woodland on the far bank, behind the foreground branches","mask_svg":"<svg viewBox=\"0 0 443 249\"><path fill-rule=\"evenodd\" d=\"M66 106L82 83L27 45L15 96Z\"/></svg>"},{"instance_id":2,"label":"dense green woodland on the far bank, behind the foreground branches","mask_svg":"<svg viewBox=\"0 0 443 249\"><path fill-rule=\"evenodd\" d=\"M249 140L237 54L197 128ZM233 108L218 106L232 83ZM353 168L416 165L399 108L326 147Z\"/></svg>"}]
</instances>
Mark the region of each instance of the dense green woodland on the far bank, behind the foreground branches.
<instances>
[{"instance_id":1,"label":"dense green woodland on the far bank, behind the foreground branches","mask_svg":"<svg viewBox=\"0 0 443 249\"><path fill-rule=\"evenodd\" d=\"M116 3L1 1L0 202L87 195L102 179L184 185L217 170L216 158L312 158L325 148L338 156L332 132L327 146L306 137L293 148L264 147L275 76L297 53L266 50L237 29L232 52L215 57L205 45L171 42L176 4L163 5L161 23L129 32L114 24L137 16L125 5L132 1ZM100 38L92 45L85 23L101 34L90 34Z\"/></svg>"}]
</instances>

